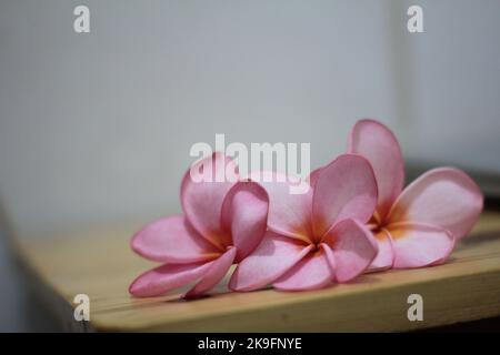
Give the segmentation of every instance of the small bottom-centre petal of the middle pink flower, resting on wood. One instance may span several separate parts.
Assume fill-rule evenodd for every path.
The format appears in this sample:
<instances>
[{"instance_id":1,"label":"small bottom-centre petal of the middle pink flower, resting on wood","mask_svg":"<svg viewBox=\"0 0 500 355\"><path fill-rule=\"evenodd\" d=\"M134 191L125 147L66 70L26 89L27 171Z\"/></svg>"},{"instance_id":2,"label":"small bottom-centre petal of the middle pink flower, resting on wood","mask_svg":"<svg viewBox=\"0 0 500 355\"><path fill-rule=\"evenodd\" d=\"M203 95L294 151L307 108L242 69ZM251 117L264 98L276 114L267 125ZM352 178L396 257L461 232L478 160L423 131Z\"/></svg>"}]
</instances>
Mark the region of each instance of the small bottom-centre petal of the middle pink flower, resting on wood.
<instances>
[{"instance_id":1,"label":"small bottom-centre petal of the middle pink flower, resting on wood","mask_svg":"<svg viewBox=\"0 0 500 355\"><path fill-rule=\"evenodd\" d=\"M327 257L322 250L310 252L272 286L283 291L318 290L327 286L333 278Z\"/></svg>"}]
</instances>

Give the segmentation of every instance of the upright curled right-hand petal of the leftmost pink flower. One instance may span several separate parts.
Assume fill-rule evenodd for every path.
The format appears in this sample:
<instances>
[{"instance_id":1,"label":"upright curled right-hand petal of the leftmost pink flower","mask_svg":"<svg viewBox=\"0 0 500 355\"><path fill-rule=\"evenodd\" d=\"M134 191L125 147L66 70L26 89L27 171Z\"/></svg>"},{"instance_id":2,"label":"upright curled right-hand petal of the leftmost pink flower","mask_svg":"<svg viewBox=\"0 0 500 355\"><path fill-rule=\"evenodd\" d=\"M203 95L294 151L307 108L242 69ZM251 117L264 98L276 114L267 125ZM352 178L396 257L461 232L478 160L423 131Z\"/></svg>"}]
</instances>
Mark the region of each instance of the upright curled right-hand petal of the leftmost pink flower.
<instances>
[{"instance_id":1,"label":"upright curled right-hand petal of the leftmost pink flower","mask_svg":"<svg viewBox=\"0 0 500 355\"><path fill-rule=\"evenodd\" d=\"M222 226L232 235L237 262L260 244L267 230L269 197L256 182L238 182L226 195Z\"/></svg>"}]
</instances>

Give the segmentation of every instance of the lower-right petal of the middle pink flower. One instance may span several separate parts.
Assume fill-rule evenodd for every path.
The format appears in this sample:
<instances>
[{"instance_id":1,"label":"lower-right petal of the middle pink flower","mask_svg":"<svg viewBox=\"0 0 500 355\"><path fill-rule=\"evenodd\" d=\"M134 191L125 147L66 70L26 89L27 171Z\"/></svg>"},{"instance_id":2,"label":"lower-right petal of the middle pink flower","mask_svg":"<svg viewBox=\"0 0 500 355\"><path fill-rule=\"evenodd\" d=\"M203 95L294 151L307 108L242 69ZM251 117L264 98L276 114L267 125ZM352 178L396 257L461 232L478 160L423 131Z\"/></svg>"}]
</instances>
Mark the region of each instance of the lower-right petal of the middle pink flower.
<instances>
[{"instance_id":1,"label":"lower-right petal of the middle pink flower","mask_svg":"<svg viewBox=\"0 0 500 355\"><path fill-rule=\"evenodd\" d=\"M323 237L334 254L336 278L348 282L362 274L377 256L377 242L371 232L356 220L343 220Z\"/></svg>"}]
</instances>

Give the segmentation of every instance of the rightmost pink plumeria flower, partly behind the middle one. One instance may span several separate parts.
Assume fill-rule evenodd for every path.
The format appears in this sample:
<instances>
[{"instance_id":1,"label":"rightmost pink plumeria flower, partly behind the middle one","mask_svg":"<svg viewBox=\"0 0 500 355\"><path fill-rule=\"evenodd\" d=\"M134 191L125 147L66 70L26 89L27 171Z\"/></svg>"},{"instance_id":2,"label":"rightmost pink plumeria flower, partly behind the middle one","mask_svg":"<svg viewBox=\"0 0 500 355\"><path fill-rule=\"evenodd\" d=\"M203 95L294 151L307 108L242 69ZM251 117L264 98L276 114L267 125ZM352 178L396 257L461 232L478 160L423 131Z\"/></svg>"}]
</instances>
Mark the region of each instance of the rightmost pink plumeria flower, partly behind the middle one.
<instances>
[{"instance_id":1,"label":"rightmost pink plumeria flower, partly behind the middle one","mask_svg":"<svg viewBox=\"0 0 500 355\"><path fill-rule=\"evenodd\" d=\"M370 227L379 254L371 270L421 267L443 263L457 240L472 229L482 211L482 193L462 171L432 169L403 190L401 149L392 132L373 120L353 126L350 153L373 166L377 210Z\"/></svg>"}]
</instances>

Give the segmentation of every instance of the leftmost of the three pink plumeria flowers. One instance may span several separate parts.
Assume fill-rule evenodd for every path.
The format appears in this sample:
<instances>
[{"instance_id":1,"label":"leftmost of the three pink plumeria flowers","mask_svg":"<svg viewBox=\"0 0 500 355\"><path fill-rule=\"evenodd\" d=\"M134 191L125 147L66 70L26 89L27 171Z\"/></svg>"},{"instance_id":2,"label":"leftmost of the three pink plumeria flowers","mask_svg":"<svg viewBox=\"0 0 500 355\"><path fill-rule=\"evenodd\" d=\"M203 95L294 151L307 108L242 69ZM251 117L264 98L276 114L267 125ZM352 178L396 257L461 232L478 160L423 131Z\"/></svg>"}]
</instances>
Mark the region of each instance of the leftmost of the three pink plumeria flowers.
<instances>
[{"instance_id":1,"label":"leftmost of the three pink plumeria flowers","mask_svg":"<svg viewBox=\"0 0 500 355\"><path fill-rule=\"evenodd\" d=\"M210 164L214 175L230 170L237 175L233 162L218 152L192 169ZM269 199L254 182L194 182L188 171L181 203L183 215L156 221L133 236L133 251L164 264L137 277L129 288L132 295L157 296L193 282L183 297L203 295L264 235Z\"/></svg>"}]
</instances>

